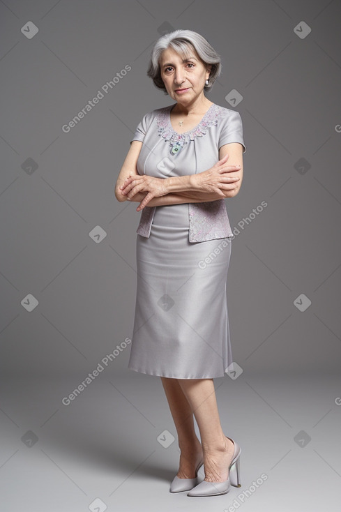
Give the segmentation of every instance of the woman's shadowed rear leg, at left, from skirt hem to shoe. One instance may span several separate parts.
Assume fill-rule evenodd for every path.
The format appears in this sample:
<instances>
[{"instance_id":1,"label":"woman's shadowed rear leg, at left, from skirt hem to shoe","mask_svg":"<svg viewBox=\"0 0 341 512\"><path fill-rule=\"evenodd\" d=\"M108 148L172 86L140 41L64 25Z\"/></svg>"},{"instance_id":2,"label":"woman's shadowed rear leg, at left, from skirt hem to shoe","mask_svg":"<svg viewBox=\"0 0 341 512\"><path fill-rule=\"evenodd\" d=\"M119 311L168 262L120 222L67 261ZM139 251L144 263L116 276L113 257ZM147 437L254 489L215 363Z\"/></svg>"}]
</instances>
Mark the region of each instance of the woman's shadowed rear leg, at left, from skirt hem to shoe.
<instances>
[{"instance_id":1,"label":"woman's shadowed rear leg, at left, from skirt hem to shoe","mask_svg":"<svg viewBox=\"0 0 341 512\"><path fill-rule=\"evenodd\" d=\"M181 450L179 472L180 479L194 479L195 469L203 460L202 445L195 433L193 412L183 394L178 379L160 377L162 386L172 413Z\"/></svg>"}]
</instances>

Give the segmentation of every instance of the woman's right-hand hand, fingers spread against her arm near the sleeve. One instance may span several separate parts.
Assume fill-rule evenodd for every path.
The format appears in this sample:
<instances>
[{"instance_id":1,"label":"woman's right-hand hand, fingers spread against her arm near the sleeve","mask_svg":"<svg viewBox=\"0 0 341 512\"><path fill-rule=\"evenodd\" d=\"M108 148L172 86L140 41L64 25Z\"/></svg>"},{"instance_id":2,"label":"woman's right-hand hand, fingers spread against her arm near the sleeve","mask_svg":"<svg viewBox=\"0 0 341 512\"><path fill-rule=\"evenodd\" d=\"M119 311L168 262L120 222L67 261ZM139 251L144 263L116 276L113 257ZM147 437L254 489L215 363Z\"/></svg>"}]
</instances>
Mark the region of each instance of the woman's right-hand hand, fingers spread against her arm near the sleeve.
<instances>
[{"instance_id":1,"label":"woman's right-hand hand, fingers spread against her arm near the sleeve","mask_svg":"<svg viewBox=\"0 0 341 512\"><path fill-rule=\"evenodd\" d=\"M222 197L226 197L222 190L233 190L235 188L234 183L240 179L238 176L228 176L227 174L241 168L240 165L227 165L227 158L229 158L228 154L213 165L211 169L198 174L191 174L190 182L195 190L215 192Z\"/></svg>"}]
</instances>

